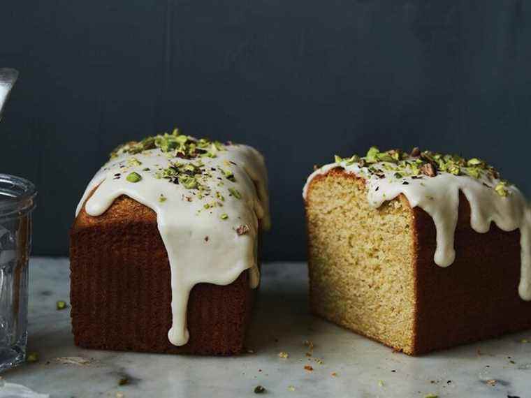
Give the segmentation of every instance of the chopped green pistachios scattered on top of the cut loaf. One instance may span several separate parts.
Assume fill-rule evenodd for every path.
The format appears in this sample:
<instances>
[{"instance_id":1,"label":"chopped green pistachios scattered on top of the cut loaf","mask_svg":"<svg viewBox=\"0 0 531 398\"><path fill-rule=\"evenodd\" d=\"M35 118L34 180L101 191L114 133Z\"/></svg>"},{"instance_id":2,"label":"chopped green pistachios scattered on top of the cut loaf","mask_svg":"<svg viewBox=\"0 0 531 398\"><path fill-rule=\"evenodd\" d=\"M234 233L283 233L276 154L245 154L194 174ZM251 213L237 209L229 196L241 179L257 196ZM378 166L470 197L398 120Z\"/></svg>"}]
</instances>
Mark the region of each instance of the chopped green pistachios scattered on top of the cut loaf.
<instances>
[{"instance_id":1,"label":"chopped green pistachios scattered on top of the cut loaf","mask_svg":"<svg viewBox=\"0 0 531 398\"><path fill-rule=\"evenodd\" d=\"M396 179L404 177L436 177L439 173L444 172L475 179L486 178L492 180L500 178L500 173L482 159L465 159L456 154L421 151L418 147L414 147L409 154L400 149L380 151L378 147L370 147L367 154L363 157L356 154L350 158L342 158L339 155L335 155L334 163L344 163L347 166L358 163L358 166L363 168L363 172L368 173L369 176L375 175L378 178L386 177L388 175L386 174L387 172L391 172L391 175ZM402 183L408 184L407 182ZM507 189L507 182L504 181L497 184L494 189L500 196L510 194Z\"/></svg>"}]
</instances>

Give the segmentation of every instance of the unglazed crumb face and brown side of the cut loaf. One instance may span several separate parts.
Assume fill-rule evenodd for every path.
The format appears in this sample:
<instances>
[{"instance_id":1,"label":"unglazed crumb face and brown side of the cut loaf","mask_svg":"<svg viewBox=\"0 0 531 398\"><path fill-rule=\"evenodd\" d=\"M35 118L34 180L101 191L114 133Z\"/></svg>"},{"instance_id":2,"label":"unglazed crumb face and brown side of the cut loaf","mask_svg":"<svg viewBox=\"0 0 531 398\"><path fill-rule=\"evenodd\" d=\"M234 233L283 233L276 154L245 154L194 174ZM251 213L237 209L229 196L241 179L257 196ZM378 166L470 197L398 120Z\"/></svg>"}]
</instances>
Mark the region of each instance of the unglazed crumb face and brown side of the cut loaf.
<instances>
[{"instance_id":1,"label":"unglazed crumb face and brown side of the cut loaf","mask_svg":"<svg viewBox=\"0 0 531 398\"><path fill-rule=\"evenodd\" d=\"M308 186L314 314L410 355L531 328L518 230L475 232L460 194L456 260L439 267L431 216L403 195L368 208L366 195L365 179L341 168Z\"/></svg>"}]
</instances>

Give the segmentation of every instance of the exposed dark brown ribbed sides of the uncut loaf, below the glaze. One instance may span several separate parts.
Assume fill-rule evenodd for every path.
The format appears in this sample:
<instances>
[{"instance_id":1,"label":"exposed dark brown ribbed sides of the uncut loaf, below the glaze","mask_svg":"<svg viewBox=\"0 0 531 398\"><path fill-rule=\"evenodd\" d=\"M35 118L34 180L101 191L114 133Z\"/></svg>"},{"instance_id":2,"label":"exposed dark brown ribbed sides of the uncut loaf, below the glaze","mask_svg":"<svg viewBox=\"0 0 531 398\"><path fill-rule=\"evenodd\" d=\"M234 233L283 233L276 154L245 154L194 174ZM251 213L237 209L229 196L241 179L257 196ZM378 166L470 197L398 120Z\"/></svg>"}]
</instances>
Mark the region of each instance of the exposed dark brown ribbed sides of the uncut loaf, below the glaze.
<instances>
[{"instance_id":1,"label":"exposed dark brown ribbed sides of the uncut loaf, below the glaze","mask_svg":"<svg viewBox=\"0 0 531 398\"><path fill-rule=\"evenodd\" d=\"M168 341L170 266L155 212L120 196L101 216L89 216L82 209L75 219L71 317L78 346L154 353L241 353L253 297L248 271L227 286L198 283L188 302L189 342L174 346Z\"/></svg>"}]
</instances>

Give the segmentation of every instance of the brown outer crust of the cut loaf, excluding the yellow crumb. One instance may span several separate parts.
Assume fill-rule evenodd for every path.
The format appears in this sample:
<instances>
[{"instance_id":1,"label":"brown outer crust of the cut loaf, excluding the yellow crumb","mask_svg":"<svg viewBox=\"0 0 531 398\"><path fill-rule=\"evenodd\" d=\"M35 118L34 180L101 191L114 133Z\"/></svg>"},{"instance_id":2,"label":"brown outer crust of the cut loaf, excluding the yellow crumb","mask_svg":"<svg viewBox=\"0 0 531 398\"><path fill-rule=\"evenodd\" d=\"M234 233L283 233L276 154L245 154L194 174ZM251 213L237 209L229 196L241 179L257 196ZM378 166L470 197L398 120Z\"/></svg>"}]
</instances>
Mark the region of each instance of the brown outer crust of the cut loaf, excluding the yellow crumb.
<instances>
[{"instance_id":1,"label":"brown outer crust of the cut loaf, excluding the yellow crumb","mask_svg":"<svg viewBox=\"0 0 531 398\"><path fill-rule=\"evenodd\" d=\"M343 168L316 175L310 182L305 202L307 227L312 190L323 179L348 179L365 191L365 179ZM410 212L412 237L412 278L414 279L414 323L411 348L393 346L375 336L370 338L411 355L420 355L506 332L531 328L531 302L518 295L520 278L520 233L504 232L491 225L488 233L470 227L470 205L460 193L456 227L456 260L449 267L434 263L435 223L420 207L412 208L403 194L395 200ZM310 230L308 230L310 234ZM309 235L310 236L310 235ZM314 314L329 320L321 309L319 290L312 288L312 249L309 239L310 303ZM344 325L346 326L346 325ZM347 326L348 327L348 326ZM363 330L355 330L365 334Z\"/></svg>"}]
</instances>

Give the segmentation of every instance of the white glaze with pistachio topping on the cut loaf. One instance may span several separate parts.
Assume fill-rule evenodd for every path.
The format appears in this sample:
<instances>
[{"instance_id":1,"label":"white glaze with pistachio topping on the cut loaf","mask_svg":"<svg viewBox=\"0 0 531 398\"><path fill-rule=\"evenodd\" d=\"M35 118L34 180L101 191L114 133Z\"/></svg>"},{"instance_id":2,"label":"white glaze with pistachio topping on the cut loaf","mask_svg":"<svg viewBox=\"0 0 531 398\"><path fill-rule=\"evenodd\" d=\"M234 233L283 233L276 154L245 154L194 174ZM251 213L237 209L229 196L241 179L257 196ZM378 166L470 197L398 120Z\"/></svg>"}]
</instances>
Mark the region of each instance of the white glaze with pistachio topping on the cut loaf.
<instances>
[{"instance_id":1,"label":"white glaze with pistachio topping on the cut loaf","mask_svg":"<svg viewBox=\"0 0 531 398\"><path fill-rule=\"evenodd\" d=\"M454 235L458 220L459 193L470 204L470 226L486 233L490 224L505 231L521 231L521 283L518 291L531 300L531 210L521 191L500 177L493 166L479 158L399 149L381 152L371 147L365 156L335 156L334 162L317 168L303 189L305 200L314 177L341 168L365 179L368 202L379 207L404 195L411 207L432 217L437 230L434 262L447 267L456 257Z\"/></svg>"}]
</instances>

